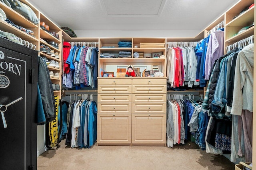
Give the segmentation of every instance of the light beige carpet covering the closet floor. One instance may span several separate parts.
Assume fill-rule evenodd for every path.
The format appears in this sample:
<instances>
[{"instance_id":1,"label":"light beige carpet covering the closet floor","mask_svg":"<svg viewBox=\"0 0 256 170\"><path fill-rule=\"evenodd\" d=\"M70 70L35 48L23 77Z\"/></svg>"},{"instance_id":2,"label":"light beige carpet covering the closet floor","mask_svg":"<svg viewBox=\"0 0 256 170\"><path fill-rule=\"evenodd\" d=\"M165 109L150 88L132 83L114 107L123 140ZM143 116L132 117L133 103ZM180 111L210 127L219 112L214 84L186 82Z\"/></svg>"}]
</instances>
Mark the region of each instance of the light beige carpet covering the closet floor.
<instances>
[{"instance_id":1,"label":"light beige carpet covering the closet floor","mask_svg":"<svg viewBox=\"0 0 256 170\"><path fill-rule=\"evenodd\" d=\"M38 156L38 170L234 170L226 157L208 154L198 145L168 147L97 146L90 149L66 147Z\"/></svg>"}]
</instances>

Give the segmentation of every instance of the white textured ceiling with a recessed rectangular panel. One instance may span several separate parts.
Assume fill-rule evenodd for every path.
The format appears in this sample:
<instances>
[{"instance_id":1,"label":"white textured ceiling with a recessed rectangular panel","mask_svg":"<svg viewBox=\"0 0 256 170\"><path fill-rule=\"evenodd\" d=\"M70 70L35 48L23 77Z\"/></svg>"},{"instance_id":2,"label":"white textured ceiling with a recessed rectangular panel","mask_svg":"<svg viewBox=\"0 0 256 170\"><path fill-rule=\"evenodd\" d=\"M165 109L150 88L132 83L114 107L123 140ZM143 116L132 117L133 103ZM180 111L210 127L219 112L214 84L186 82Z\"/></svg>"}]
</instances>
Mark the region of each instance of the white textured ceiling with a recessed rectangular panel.
<instances>
[{"instance_id":1,"label":"white textured ceiling with a recessed rectangular panel","mask_svg":"<svg viewBox=\"0 0 256 170\"><path fill-rule=\"evenodd\" d=\"M237 0L28 0L74 30L203 30Z\"/></svg>"}]
</instances>

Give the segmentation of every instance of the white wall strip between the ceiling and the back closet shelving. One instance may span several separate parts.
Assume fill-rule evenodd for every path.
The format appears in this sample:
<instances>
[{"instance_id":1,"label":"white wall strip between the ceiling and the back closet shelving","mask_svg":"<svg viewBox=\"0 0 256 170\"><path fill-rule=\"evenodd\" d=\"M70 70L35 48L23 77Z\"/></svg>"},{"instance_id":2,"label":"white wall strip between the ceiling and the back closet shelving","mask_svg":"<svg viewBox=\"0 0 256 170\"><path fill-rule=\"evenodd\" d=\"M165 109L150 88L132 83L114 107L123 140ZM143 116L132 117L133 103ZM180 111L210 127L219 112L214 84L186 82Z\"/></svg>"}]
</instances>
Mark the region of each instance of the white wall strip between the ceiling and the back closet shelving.
<instances>
[{"instance_id":1,"label":"white wall strip between the ceiling and the back closet shelving","mask_svg":"<svg viewBox=\"0 0 256 170\"><path fill-rule=\"evenodd\" d=\"M202 30L74 30L77 37L195 37Z\"/></svg>"}]
</instances>

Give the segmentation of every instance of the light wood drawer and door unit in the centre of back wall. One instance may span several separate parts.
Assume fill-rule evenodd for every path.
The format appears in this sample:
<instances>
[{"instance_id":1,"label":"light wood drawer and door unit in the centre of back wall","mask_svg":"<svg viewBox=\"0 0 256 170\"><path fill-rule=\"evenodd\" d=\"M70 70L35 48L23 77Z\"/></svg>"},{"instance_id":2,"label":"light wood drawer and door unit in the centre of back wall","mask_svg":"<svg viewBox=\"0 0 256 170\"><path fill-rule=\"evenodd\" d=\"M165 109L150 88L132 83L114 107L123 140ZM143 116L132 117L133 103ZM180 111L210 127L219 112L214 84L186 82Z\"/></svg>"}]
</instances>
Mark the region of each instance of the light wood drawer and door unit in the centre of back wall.
<instances>
[{"instance_id":1,"label":"light wood drawer and door unit in the centre of back wall","mask_svg":"<svg viewBox=\"0 0 256 170\"><path fill-rule=\"evenodd\" d=\"M98 145L165 145L165 133L166 78L98 79Z\"/></svg>"}]
</instances>

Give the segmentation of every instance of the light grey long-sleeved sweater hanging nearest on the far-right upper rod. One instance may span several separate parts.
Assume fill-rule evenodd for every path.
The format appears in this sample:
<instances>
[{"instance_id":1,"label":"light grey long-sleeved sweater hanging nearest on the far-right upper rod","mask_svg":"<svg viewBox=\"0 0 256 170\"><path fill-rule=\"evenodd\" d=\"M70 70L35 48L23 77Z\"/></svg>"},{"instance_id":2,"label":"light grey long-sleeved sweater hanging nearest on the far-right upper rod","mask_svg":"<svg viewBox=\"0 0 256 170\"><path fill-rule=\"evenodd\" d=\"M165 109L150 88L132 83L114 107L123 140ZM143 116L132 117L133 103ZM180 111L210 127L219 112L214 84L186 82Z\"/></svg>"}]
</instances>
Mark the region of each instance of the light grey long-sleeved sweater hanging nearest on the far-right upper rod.
<instances>
[{"instance_id":1,"label":"light grey long-sleeved sweater hanging nearest on the far-right upper rod","mask_svg":"<svg viewBox=\"0 0 256 170\"><path fill-rule=\"evenodd\" d=\"M253 50L249 44L238 53L234 78L234 94L231 114L241 115L242 109L253 109ZM243 90L242 90L243 89Z\"/></svg>"}]
</instances>

